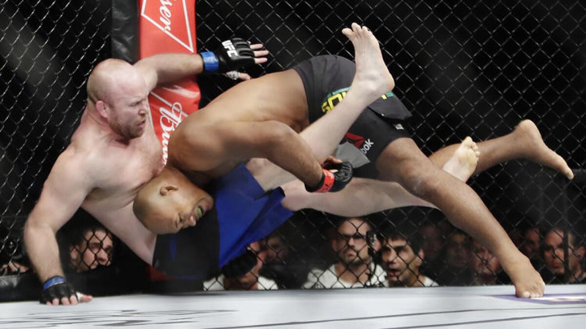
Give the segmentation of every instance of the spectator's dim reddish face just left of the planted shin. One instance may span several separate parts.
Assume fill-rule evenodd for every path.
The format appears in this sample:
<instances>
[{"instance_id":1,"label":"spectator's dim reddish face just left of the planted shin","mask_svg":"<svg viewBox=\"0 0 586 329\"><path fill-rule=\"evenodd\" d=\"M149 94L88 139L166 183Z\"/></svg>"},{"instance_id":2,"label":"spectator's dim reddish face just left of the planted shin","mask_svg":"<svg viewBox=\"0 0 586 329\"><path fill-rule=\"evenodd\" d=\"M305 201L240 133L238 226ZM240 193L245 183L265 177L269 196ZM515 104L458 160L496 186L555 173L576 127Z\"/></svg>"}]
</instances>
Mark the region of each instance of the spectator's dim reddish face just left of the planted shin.
<instances>
[{"instance_id":1,"label":"spectator's dim reddish face just left of the planted shin","mask_svg":"<svg viewBox=\"0 0 586 329\"><path fill-rule=\"evenodd\" d=\"M472 258L470 267L474 273L473 284L476 286L505 283L499 260L480 242L472 241Z\"/></svg>"}]
</instances>

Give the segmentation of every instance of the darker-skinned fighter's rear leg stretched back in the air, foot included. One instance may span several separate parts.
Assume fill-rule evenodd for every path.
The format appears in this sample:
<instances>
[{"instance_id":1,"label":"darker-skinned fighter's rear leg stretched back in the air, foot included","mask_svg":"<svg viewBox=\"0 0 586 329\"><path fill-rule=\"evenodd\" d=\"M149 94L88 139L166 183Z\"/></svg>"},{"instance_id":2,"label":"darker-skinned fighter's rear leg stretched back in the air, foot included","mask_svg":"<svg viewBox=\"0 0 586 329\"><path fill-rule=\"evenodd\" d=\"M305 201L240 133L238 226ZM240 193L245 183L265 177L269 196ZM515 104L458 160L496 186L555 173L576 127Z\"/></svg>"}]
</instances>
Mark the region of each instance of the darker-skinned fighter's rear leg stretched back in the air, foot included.
<instances>
[{"instance_id":1,"label":"darker-skinned fighter's rear leg stretched back in the air, foot included","mask_svg":"<svg viewBox=\"0 0 586 329\"><path fill-rule=\"evenodd\" d=\"M433 153L430 159L441 167L457 147L450 145L442 148ZM505 136L479 142L478 149L481 157L474 174L509 160L528 159L557 170L568 179L574 178L574 173L564 159L543 142L537 126L531 120L521 121L515 130Z\"/></svg>"}]
</instances>

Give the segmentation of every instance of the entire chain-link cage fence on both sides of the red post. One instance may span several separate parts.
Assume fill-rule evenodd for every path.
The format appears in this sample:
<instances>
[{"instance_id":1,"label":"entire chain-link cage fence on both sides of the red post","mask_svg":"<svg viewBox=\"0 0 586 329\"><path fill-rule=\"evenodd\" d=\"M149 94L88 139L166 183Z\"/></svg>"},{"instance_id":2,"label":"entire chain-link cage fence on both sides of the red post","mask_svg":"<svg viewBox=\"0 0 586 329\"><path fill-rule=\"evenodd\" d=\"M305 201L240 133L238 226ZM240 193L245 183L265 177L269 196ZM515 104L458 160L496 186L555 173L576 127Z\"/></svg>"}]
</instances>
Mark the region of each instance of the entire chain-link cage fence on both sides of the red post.
<instances>
[{"instance_id":1,"label":"entire chain-link cage fence on both sides of the red post","mask_svg":"<svg viewBox=\"0 0 586 329\"><path fill-rule=\"evenodd\" d=\"M80 118L91 68L111 55L111 4L0 3L0 274L6 275L28 268L21 246L26 215ZM586 5L580 1L197 1L196 15L198 49L233 36L265 44L271 60L251 69L253 76L318 54L351 58L340 30L362 23L381 42L394 92L412 111L408 124L425 153L465 136L505 135L529 118L570 167L584 167ZM212 76L199 81L202 106L231 84ZM469 184L546 283L582 279L580 176L568 182L516 161ZM73 248L63 242L62 255L76 272L117 259L106 251L110 235L90 231ZM424 208L353 220L304 210L252 248L259 262L249 275L217 277L205 289L509 283L482 245Z\"/></svg>"}]
</instances>

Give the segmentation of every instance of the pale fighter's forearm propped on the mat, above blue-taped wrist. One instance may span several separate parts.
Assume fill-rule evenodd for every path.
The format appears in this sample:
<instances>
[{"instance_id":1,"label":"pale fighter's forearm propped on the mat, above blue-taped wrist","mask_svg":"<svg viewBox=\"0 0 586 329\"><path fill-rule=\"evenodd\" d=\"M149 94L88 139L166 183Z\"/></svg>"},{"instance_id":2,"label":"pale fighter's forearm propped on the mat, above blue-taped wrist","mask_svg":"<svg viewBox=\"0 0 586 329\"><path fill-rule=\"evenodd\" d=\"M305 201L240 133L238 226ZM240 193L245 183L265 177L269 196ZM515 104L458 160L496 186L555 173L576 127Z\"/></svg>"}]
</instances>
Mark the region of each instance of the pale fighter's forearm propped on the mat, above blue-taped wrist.
<instances>
[{"instance_id":1,"label":"pale fighter's forearm propped on the mat, above blue-taped wrist","mask_svg":"<svg viewBox=\"0 0 586 329\"><path fill-rule=\"evenodd\" d=\"M63 276L63 269L59 260L59 246L55 232L49 225L25 225L24 241L30 263L39 276L40 282L45 282L53 276Z\"/></svg>"}]
</instances>

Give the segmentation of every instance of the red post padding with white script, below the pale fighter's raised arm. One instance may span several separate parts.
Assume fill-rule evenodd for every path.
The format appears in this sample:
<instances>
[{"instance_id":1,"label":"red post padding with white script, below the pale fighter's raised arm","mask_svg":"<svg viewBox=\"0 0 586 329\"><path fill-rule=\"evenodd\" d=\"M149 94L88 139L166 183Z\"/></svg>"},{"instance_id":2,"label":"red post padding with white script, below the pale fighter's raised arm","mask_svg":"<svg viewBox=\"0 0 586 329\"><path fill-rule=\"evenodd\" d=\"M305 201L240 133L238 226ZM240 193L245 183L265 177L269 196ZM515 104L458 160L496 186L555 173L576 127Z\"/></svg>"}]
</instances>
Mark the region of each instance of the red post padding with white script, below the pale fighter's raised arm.
<instances>
[{"instance_id":1,"label":"red post padding with white script, below the pale fighter's raised arm","mask_svg":"<svg viewBox=\"0 0 586 329\"><path fill-rule=\"evenodd\" d=\"M181 121L188 115L183 112L183 107L180 102L171 103L154 92L151 92L151 95L153 95L156 100L160 101L160 103L153 102L152 104L158 107L158 111L153 112L153 119L157 122L156 116L159 116L159 127L155 126L155 131L161 134L159 140L161 140L161 145L163 147L163 162L166 163L167 158L169 157L169 138L171 137L171 133L175 131L175 128L177 128ZM160 128L160 130L157 128Z\"/></svg>"}]
</instances>

